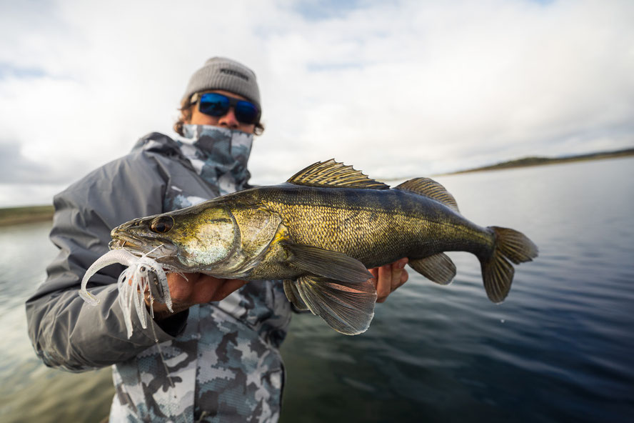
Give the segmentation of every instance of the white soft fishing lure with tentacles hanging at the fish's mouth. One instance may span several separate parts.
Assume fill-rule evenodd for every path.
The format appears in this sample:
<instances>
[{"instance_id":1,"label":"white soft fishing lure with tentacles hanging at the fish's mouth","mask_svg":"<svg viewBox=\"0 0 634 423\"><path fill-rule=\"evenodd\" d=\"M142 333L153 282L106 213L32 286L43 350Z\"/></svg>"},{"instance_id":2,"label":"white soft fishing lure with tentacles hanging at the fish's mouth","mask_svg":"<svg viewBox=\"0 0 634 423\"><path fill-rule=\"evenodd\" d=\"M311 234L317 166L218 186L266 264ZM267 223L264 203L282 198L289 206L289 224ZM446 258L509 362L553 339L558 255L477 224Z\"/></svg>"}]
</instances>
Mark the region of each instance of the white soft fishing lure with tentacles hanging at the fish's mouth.
<instances>
[{"instance_id":1,"label":"white soft fishing lure with tentacles hanging at the fish's mouth","mask_svg":"<svg viewBox=\"0 0 634 423\"><path fill-rule=\"evenodd\" d=\"M150 253L151 252L148 254ZM144 329L147 328L146 304L144 301L144 293L146 291L150 293L151 299L156 298L164 302L169 311L173 312L167 284L167 275L163 270L164 265L147 257L147 254L143 254L139 257L126 249L114 249L99 257L99 259L88 268L86 274L84 274L84 279L81 279L79 297L83 298L85 302L92 306L99 304L99 299L86 291L86 284L88 284L88 280L96 274L96 272L115 263L121 263L128 267L119 275L117 288L119 289L119 305L124 313L124 322L128 330L128 338L130 338L132 336L133 304L136 309L136 315L141 322L141 327ZM154 277L152 277L152 274L156 275L158 282L157 287L154 286ZM154 310L151 308L150 314L151 317L154 318Z\"/></svg>"}]
</instances>

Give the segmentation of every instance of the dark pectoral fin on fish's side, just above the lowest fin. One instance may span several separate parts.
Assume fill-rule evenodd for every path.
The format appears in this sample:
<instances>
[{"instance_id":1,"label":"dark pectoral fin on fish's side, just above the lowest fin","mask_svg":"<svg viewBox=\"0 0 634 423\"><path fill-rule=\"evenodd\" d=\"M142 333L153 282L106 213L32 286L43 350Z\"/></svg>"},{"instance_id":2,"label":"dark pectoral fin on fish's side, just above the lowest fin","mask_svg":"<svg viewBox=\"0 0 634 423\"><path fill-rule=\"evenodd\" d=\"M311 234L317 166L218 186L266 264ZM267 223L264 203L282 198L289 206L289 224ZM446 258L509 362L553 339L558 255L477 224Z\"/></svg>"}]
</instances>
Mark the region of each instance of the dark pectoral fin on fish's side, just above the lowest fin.
<instances>
[{"instance_id":1,"label":"dark pectoral fin on fish's side, just above the lowest fin","mask_svg":"<svg viewBox=\"0 0 634 423\"><path fill-rule=\"evenodd\" d=\"M337 281L361 283L372 277L363 263L339 252L301 244L284 244L293 266Z\"/></svg>"}]
</instances>

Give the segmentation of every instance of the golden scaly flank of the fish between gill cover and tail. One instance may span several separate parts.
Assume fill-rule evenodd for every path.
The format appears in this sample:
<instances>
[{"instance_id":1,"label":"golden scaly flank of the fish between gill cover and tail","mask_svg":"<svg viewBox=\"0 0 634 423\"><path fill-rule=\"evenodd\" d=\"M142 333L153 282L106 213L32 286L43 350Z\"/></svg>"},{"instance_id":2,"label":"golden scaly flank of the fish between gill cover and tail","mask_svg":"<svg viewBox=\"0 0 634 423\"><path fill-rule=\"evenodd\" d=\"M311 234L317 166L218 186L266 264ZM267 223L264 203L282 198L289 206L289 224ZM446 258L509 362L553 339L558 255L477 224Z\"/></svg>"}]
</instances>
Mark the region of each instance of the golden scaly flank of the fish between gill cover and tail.
<instances>
[{"instance_id":1,"label":"golden scaly flank of the fish between gill cover and tail","mask_svg":"<svg viewBox=\"0 0 634 423\"><path fill-rule=\"evenodd\" d=\"M263 187L257 194L258 201L280 214L295 242L342 252L370 268L401 257L493 248L490 230L438 201L405 191L287 184Z\"/></svg>"}]
</instances>

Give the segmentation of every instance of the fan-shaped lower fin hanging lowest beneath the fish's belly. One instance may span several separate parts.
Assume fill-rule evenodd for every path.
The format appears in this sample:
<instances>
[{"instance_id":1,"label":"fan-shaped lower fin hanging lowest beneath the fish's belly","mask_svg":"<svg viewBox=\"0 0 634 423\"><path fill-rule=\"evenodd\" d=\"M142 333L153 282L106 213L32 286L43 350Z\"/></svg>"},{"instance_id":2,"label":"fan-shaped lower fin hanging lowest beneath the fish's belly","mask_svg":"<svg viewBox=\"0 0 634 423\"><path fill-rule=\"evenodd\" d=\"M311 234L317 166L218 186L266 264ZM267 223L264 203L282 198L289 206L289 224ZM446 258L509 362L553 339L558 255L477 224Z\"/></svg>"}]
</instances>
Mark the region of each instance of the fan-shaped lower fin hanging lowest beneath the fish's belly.
<instances>
[{"instance_id":1,"label":"fan-shaped lower fin hanging lowest beneath the fish's belly","mask_svg":"<svg viewBox=\"0 0 634 423\"><path fill-rule=\"evenodd\" d=\"M293 283L308 309L337 332L356 335L370 327L376 303L372 282L349 283L305 276Z\"/></svg>"}]
</instances>

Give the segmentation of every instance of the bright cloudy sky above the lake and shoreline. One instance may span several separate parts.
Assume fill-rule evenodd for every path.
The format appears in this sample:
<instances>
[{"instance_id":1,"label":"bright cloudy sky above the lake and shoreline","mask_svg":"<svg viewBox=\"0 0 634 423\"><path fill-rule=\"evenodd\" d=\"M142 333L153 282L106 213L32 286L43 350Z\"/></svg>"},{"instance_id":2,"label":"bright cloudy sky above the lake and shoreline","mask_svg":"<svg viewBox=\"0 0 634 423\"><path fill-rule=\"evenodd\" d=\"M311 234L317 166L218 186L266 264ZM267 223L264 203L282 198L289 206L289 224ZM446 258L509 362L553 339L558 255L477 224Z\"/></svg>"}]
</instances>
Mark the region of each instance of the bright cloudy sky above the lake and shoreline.
<instances>
[{"instance_id":1,"label":"bright cloudy sky above the lake and shoreline","mask_svg":"<svg viewBox=\"0 0 634 423\"><path fill-rule=\"evenodd\" d=\"M251 67L254 184L634 146L634 1L0 0L0 207L50 204L151 131L193 71Z\"/></svg>"}]
</instances>

